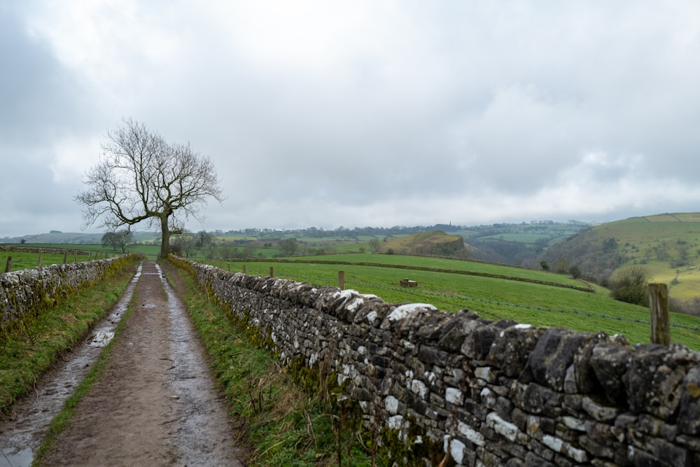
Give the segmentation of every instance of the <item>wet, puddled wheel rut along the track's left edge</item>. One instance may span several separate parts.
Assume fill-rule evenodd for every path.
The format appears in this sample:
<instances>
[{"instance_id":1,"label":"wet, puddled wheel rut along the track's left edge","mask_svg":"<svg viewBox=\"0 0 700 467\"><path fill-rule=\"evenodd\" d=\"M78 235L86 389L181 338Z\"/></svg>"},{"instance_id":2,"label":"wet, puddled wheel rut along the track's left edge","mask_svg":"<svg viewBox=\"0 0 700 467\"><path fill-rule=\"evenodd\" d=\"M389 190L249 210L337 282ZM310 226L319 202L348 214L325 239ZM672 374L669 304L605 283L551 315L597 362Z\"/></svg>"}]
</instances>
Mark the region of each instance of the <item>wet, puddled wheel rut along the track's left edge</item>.
<instances>
[{"instance_id":1,"label":"wet, puddled wheel rut along the track's left edge","mask_svg":"<svg viewBox=\"0 0 700 467\"><path fill-rule=\"evenodd\" d=\"M51 420L62 410L87 371L97 361L102 347L114 337L120 319L131 302L141 277L141 265L111 313L106 316L82 345L67 354L62 365L33 394L12 407L10 418L0 422L0 467L29 467L34 451L41 444Z\"/></svg>"}]
</instances>

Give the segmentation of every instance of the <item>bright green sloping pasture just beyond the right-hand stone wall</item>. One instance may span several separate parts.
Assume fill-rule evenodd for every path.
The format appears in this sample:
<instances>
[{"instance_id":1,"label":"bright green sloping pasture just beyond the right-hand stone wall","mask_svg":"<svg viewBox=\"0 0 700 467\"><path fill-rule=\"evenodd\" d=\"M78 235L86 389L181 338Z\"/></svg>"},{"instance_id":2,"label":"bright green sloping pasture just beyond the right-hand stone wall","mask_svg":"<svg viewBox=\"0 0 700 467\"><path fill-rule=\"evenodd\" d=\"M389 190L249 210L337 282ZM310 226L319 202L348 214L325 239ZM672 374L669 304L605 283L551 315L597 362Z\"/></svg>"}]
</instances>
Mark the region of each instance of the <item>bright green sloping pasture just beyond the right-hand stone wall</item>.
<instances>
[{"instance_id":1,"label":"bright green sloping pasture just beyond the right-hand stone wall","mask_svg":"<svg viewBox=\"0 0 700 467\"><path fill-rule=\"evenodd\" d=\"M352 255L337 258L345 260L348 257ZM500 271L500 274L524 274L526 277L544 277L550 281L568 280L559 274L468 261L398 255L359 255L358 258L371 258L373 262L384 259L392 265L405 263L410 267L442 265L444 269L455 269L461 265L465 269L474 268L492 273ZM318 258L318 260L328 259L328 256ZM530 323L533 326L561 326L589 332L602 330L610 335L624 334L632 343L650 340L649 310L613 300L607 289L598 286L595 287L596 293L587 293L542 284L465 276L449 272L322 263L248 262L245 264L248 274L267 276L269 267L273 267L276 277L333 286L337 286L338 270L344 270L346 288L354 288L360 293L374 293L386 302L430 303L448 312L468 308L487 319L509 318L520 323ZM226 263L224 267L227 267ZM240 263L231 263L232 271L240 272L241 267ZM399 286L399 281L403 278L413 279L419 286L402 288ZM700 332L697 330L700 328L700 318L671 313L671 323L684 326L671 328L673 342L680 342L700 351Z\"/></svg>"}]
</instances>

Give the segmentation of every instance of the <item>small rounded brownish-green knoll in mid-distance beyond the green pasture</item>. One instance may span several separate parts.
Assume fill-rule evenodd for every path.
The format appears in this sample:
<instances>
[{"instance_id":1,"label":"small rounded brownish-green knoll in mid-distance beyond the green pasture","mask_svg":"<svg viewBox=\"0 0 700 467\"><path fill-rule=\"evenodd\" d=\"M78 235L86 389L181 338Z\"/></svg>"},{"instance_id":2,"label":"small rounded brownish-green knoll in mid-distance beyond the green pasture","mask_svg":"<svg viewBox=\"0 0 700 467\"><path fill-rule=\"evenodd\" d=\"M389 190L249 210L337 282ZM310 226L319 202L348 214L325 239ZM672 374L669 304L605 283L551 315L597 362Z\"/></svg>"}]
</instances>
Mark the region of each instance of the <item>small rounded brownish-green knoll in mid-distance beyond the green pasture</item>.
<instances>
[{"instance_id":1,"label":"small rounded brownish-green knoll in mid-distance beyond the green pasture","mask_svg":"<svg viewBox=\"0 0 700 467\"><path fill-rule=\"evenodd\" d=\"M468 258L469 256L462 237L448 235L442 230L431 230L405 237L385 239L379 253L447 256L450 258Z\"/></svg>"}]
</instances>

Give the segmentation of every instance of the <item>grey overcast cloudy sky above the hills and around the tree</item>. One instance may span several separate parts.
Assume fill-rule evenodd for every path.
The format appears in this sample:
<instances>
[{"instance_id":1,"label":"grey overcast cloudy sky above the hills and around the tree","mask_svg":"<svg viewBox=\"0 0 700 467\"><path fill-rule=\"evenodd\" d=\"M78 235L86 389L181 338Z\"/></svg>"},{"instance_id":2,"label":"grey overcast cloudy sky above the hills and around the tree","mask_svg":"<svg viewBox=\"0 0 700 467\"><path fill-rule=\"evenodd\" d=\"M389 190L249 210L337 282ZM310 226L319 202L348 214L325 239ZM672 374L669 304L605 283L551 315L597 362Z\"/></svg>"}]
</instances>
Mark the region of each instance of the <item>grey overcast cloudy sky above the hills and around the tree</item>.
<instances>
[{"instance_id":1,"label":"grey overcast cloudy sky above the hills and around the tree","mask_svg":"<svg viewBox=\"0 0 700 467\"><path fill-rule=\"evenodd\" d=\"M0 60L0 237L123 118L214 160L195 231L700 211L695 0L10 0Z\"/></svg>"}]
</instances>

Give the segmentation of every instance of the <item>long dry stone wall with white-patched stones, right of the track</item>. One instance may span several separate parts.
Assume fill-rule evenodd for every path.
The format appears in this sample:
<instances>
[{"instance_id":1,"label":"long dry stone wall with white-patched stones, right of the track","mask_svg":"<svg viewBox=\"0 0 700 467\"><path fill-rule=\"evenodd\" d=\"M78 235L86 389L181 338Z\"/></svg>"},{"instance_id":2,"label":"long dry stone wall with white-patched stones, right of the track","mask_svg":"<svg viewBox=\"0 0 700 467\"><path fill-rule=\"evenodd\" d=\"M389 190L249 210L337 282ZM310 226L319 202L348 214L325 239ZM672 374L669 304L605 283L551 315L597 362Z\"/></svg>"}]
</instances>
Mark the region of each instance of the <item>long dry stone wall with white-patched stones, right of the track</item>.
<instances>
[{"instance_id":1,"label":"long dry stone wall with white-patched stones, right of the track","mask_svg":"<svg viewBox=\"0 0 700 467\"><path fill-rule=\"evenodd\" d=\"M432 447L465 466L700 466L700 354L680 344L182 261L283 361L330 363L365 430L404 442L398 463L435 461Z\"/></svg>"}]
</instances>

